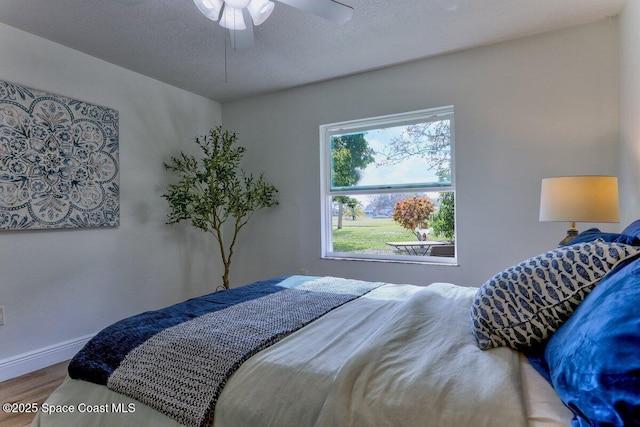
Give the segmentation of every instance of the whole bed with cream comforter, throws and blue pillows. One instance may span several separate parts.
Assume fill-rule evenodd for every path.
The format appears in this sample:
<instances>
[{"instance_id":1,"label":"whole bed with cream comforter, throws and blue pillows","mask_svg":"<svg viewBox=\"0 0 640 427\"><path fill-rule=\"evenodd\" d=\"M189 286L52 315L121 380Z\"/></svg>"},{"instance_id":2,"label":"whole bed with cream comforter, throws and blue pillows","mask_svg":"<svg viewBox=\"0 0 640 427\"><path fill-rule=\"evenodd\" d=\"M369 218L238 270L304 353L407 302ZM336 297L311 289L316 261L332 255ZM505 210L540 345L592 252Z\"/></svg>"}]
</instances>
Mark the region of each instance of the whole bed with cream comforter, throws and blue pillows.
<instances>
[{"instance_id":1,"label":"whole bed with cream comforter, throws and blue pillows","mask_svg":"<svg viewBox=\"0 0 640 427\"><path fill-rule=\"evenodd\" d=\"M591 229L480 288L286 276L142 313L32 425L640 425L638 236Z\"/></svg>"}]
</instances>

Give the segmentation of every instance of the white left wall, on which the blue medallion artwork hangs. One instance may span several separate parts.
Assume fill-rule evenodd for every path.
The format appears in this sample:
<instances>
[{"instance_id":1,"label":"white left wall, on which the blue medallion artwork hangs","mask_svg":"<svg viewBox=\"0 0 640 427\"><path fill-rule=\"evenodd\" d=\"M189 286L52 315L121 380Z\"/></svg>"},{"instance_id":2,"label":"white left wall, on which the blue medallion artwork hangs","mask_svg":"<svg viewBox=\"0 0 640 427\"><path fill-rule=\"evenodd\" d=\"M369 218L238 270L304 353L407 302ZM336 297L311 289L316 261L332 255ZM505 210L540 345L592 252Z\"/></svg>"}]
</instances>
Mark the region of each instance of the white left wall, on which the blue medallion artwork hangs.
<instances>
[{"instance_id":1,"label":"white left wall, on which the blue medallion artwork hangs","mask_svg":"<svg viewBox=\"0 0 640 427\"><path fill-rule=\"evenodd\" d=\"M160 196L163 162L220 124L221 106L5 25L0 58L2 80L118 110L121 167L120 227L0 233L1 381L68 358L124 316L212 290L211 239L165 225Z\"/></svg>"}]
</instances>

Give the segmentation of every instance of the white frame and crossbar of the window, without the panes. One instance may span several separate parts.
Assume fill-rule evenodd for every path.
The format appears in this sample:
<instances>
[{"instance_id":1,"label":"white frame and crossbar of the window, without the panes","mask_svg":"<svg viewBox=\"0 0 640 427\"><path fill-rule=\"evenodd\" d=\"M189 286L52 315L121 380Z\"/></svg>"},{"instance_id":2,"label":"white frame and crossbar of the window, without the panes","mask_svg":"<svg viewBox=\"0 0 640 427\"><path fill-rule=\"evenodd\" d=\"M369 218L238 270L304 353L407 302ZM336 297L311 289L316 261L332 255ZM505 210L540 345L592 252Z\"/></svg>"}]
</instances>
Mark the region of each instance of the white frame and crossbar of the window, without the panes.
<instances>
[{"instance_id":1,"label":"white frame and crossbar of the window, without the panes","mask_svg":"<svg viewBox=\"0 0 640 427\"><path fill-rule=\"evenodd\" d=\"M405 113L389 114L384 116L348 120L343 122L320 125L320 204L321 204L321 258L322 259L347 259L383 262L404 262L419 264L446 264L458 263L458 236L457 236L457 209L455 211L456 234L454 257L432 257L417 255L373 255L351 252L335 252L332 247L332 202L334 196L345 195L371 195L389 193L416 193L416 192L453 192L456 197L455 184L455 111L453 105L429 108L424 110L409 111ZM451 179L450 183L417 183L399 185L359 186L355 188L332 189L331 185L331 137L345 133L366 132L369 130L389 128L395 126L411 125L416 123L435 122L440 120L450 121L451 151ZM457 205L457 203L456 203ZM329 250L331 247L332 250Z\"/></svg>"}]
</instances>

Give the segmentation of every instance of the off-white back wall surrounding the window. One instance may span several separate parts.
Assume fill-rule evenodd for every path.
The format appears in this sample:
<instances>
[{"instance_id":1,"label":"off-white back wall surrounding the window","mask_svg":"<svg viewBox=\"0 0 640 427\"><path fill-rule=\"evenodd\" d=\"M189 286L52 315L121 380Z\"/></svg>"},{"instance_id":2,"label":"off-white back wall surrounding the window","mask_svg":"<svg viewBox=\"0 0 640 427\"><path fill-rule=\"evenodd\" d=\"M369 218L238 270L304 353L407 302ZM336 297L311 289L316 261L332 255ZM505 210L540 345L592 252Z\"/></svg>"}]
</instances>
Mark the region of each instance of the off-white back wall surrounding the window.
<instances>
[{"instance_id":1,"label":"off-white back wall surrounding the window","mask_svg":"<svg viewBox=\"0 0 640 427\"><path fill-rule=\"evenodd\" d=\"M241 236L231 280L305 269L480 285L563 237L568 224L538 221L542 178L617 173L618 102L617 22L609 19L225 103L225 128L256 141L249 168L264 170L281 196ZM318 126L450 104L460 266L321 260Z\"/></svg>"}]
</instances>

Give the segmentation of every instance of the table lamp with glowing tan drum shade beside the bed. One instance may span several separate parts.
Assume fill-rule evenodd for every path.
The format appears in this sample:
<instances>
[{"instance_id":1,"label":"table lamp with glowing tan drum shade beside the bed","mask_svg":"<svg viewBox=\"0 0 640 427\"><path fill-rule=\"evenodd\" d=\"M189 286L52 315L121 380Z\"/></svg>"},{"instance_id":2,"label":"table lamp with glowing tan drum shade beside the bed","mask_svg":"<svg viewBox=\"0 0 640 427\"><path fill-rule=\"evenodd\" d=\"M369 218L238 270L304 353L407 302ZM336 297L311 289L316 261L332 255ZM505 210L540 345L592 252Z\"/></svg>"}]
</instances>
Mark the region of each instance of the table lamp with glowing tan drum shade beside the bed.
<instances>
[{"instance_id":1,"label":"table lamp with glowing tan drum shade beside the bed","mask_svg":"<svg viewBox=\"0 0 640 427\"><path fill-rule=\"evenodd\" d=\"M587 175L543 179L540 221L570 223L560 245L578 235L576 222L620 222L618 178Z\"/></svg>"}]
</instances>

